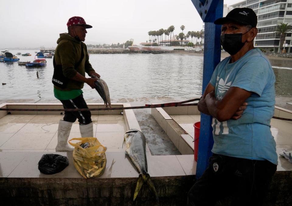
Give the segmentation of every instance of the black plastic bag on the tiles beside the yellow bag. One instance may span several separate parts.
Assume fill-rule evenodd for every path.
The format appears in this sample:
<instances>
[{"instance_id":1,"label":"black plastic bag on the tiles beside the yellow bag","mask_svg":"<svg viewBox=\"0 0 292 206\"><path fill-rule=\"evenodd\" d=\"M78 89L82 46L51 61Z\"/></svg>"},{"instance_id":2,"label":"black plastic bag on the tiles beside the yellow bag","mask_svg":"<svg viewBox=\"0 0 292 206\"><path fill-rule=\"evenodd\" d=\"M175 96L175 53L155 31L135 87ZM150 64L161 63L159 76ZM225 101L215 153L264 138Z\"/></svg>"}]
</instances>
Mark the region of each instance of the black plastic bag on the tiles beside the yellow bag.
<instances>
[{"instance_id":1,"label":"black plastic bag on the tiles beside the yellow bag","mask_svg":"<svg viewBox=\"0 0 292 206\"><path fill-rule=\"evenodd\" d=\"M68 158L58 154L44 154L38 163L41 173L52 175L61 172L69 165Z\"/></svg>"}]
</instances>

